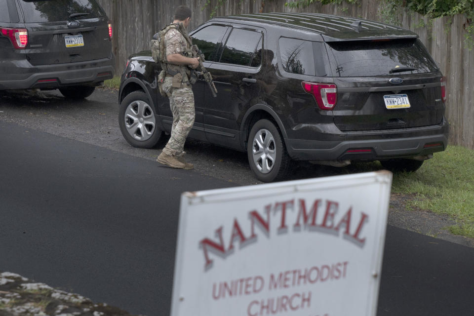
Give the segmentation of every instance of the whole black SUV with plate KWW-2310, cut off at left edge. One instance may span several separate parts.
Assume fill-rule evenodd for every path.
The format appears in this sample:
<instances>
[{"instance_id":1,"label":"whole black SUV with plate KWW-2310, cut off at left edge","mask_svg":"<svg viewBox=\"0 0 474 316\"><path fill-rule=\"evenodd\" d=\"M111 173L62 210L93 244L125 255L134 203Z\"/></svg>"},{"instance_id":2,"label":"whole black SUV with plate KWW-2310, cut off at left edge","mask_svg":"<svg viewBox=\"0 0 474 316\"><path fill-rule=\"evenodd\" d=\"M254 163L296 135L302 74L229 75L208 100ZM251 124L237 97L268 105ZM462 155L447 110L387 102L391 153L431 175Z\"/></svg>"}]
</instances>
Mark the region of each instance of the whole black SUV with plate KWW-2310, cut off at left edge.
<instances>
[{"instance_id":1,"label":"whole black SUV with plate KWW-2310, cut off at left edge","mask_svg":"<svg viewBox=\"0 0 474 316\"><path fill-rule=\"evenodd\" d=\"M85 98L113 77L111 38L95 0L0 0L0 90Z\"/></svg>"}]
</instances>

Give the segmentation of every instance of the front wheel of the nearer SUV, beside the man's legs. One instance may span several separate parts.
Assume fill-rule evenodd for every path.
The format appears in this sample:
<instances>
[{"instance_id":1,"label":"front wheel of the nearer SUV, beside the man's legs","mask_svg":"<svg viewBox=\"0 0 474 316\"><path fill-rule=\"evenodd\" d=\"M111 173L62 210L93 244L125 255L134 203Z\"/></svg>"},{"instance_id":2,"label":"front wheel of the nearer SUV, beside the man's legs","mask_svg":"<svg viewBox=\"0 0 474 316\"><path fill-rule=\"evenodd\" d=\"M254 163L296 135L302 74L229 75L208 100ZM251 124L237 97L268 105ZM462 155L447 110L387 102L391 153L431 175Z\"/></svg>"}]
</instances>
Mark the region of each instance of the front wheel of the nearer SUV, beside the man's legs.
<instances>
[{"instance_id":1,"label":"front wheel of the nearer SUV, beside the man's legs","mask_svg":"<svg viewBox=\"0 0 474 316\"><path fill-rule=\"evenodd\" d=\"M118 125L125 140L133 147L155 147L163 138L155 115L155 108L144 92L128 94L118 109Z\"/></svg>"}]
</instances>

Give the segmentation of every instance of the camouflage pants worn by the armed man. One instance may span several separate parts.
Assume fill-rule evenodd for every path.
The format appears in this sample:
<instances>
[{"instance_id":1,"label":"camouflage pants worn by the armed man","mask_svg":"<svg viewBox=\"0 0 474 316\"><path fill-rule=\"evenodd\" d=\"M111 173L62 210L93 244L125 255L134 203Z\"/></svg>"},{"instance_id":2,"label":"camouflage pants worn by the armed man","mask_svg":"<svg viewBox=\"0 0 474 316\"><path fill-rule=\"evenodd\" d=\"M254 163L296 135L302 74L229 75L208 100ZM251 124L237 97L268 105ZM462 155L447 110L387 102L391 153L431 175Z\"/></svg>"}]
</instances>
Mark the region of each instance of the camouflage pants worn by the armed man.
<instances>
[{"instance_id":1,"label":"camouflage pants worn by the armed man","mask_svg":"<svg viewBox=\"0 0 474 316\"><path fill-rule=\"evenodd\" d=\"M173 113L173 125L171 126L171 137L163 148L163 152L169 156L182 156L184 143L196 116L194 109L194 94L191 86L173 88L172 78L164 79L162 88L169 97L169 106Z\"/></svg>"}]
</instances>

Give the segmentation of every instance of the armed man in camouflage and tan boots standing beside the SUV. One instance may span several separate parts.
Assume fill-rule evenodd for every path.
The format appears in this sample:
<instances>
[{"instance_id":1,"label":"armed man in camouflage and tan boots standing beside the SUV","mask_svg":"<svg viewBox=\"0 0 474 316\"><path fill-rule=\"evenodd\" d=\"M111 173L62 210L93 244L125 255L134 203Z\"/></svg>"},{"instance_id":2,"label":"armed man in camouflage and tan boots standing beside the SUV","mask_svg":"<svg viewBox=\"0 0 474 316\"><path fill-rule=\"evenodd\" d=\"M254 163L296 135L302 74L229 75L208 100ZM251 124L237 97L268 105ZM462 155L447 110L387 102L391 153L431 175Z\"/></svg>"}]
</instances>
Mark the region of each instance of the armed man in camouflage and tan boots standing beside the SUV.
<instances>
[{"instance_id":1,"label":"armed man in camouflage and tan boots standing beside the SUV","mask_svg":"<svg viewBox=\"0 0 474 316\"><path fill-rule=\"evenodd\" d=\"M186 162L183 151L195 119L194 94L191 83L196 81L194 70L199 66L199 57L186 57L191 51L191 40L187 35L187 28L191 21L191 9L180 5L174 13L174 21L161 32L164 34L166 57L163 72L160 74L161 90L168 96L173 125L171 137L158 156L159 163L172 168L192 169L194 165ZM162 78L164 77L164 78ZM194 77L194 78L192 78ZM190 82L191 81L191 82Z\"/></svg>"}]
</instances>

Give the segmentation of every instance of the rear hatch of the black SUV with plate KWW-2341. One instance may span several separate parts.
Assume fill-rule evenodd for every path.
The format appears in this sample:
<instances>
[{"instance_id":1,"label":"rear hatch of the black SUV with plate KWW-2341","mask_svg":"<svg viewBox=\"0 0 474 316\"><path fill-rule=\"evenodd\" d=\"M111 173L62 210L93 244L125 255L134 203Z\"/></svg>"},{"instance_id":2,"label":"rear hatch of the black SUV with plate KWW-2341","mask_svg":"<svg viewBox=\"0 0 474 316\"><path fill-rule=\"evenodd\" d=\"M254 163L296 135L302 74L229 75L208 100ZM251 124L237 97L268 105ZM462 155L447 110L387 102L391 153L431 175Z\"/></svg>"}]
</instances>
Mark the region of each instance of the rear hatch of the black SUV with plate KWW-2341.
<instances>
[{"instance_id":1,"label":"rear hatch of the black SUV with plate KWW-2341","mask_svg":"<svg viewBox=\"0 0 474 316\"><path fill-rule=\"evenodd\" d=\"M327 42L342 131L381 130L441 122L441 73L416 38Z\"/></svg>"}]
</instances>

